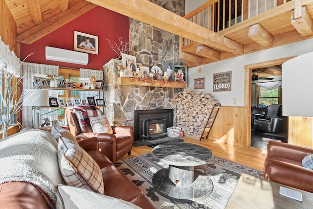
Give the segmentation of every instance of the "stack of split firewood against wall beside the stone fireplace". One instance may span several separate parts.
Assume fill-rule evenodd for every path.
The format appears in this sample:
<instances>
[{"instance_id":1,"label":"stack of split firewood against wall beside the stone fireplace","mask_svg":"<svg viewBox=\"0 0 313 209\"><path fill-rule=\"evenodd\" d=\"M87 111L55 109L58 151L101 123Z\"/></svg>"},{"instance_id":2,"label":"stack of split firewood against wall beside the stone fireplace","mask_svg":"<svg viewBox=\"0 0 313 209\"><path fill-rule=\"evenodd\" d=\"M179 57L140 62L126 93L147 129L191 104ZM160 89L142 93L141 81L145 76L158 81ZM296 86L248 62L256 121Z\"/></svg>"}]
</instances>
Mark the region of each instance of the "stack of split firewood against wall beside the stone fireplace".
<instances>
[{"instance_id":1,"label":"stack of split firewood against wall beside the stone fireplace","mask_svg":"<svg viewBox=\"0 0 313 209\"><path fill-rule=\"evenodd\" d=\"M187 90L175 95L177 100L177 126L184 134L201 138L206 122L216 103L210 93Z\"/></svg>"}]
</instances>

